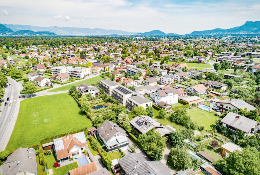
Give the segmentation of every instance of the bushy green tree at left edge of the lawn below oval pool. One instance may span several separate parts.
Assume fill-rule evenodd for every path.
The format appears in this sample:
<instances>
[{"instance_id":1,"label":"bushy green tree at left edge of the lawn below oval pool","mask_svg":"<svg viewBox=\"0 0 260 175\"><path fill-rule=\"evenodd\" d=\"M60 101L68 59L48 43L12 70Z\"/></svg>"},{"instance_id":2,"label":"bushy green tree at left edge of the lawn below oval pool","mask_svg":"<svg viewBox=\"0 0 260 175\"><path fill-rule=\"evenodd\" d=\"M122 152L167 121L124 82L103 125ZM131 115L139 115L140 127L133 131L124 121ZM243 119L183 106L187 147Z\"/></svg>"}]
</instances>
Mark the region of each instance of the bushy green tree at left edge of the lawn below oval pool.
<instances>
[{"instance_id":1,"label":"bushy green tree at left edge of the lawn below oval pool","mask_svg":"<svg viewBox=\"0 0 260 175\"><path fill-rule=\"evenodd\" d=\"M188 122L190 122L190 116L187 115L186 109L180 108L171 113L170 121L187 126Z\"/></svg>"}]
</instances>

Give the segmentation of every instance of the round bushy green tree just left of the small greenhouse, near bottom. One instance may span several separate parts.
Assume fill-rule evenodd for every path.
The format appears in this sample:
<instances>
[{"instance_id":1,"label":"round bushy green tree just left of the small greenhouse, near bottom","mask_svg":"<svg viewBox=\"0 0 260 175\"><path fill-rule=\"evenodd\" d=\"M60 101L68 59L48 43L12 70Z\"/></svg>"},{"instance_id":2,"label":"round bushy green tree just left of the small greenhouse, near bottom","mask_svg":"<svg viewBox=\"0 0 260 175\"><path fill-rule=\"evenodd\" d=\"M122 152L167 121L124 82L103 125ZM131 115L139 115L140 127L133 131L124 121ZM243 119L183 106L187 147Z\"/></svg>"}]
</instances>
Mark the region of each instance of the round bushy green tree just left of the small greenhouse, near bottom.
<instances>
[{"instance_id":1,"label":"round bushy green tree just left of the small greenhouse, near bottom","mask_svg":"<svg viewBox=\"0 0 260 175\"><path fill-rule=\"evenodd\" d=\"M167 164L174 170L185 170L192 166L189 153L179 147L171 149Z\"/></svg>"}]
</instances>

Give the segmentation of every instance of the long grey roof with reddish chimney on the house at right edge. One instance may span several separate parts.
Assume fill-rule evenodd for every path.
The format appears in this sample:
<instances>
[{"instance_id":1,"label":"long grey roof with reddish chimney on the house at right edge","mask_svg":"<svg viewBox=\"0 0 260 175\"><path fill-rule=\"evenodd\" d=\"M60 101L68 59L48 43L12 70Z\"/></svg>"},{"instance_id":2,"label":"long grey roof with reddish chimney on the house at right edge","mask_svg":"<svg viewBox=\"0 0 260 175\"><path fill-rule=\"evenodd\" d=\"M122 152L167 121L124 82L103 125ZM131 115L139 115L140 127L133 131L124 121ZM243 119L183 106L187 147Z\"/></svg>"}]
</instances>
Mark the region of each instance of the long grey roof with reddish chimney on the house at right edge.
<instances>
[{"instance_id":1,"label":"long grey roof with reddish chimney on the house at right edge","mask_svg":"<svg viewBox=\"0 0 260 175\"><path fill-rule=\"evenodd\" d=\"M250 118L246 118L233 112L229 112L229 114L227 114L220 122L246 133L259 124L255 120L251 120Z\"/></svg>"}]
</instances>

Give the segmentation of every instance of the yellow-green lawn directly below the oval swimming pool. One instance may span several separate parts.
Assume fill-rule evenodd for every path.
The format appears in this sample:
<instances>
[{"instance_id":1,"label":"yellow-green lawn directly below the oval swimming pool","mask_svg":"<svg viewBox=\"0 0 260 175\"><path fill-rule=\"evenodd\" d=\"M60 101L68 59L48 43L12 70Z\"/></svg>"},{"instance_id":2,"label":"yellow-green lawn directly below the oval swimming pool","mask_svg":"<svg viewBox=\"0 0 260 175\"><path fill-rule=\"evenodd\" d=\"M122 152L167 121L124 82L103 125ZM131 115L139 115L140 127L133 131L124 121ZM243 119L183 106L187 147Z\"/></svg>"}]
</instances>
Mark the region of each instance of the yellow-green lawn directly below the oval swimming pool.
<instances>
[{"instance_id":1,"label":"yellow-green lawn directly below the oval swimming pool","mask_svg":"<svg viewBox=\"0 0 260 175\"><path fill-rule=\"evenodd\" d=\"M187 114L191 117L192 121L205 126L206 130L209 130L211 127L215 126L215 121L218 119L218 116L215 116L214 114L198 107L187 110Z\"/></svg>"}]
</instances>

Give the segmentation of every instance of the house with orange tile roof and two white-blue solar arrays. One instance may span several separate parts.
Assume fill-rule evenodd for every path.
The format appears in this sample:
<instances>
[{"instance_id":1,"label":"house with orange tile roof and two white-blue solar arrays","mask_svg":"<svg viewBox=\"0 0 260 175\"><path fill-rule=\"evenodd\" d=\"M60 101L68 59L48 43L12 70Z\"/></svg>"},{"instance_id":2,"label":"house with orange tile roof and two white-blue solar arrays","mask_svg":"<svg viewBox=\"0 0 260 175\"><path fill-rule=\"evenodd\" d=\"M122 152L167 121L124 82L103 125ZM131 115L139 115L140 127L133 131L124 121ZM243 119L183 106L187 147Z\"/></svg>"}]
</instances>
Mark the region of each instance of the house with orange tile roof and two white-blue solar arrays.
<instances>
[{"instance_id":1,"label":"house with orange tile roof and two white-blue solar arrays","mask_svg":"<svg viewBox=\"0 0 260 175\"><path fill-rule=\"evenodd\" d=\"M68 134L53 140L53 151L57 158L57 162L63 162L70 157L82 155L82 151L88 146L84 132L76 134Z\"/></svg>"}]
</instances>

